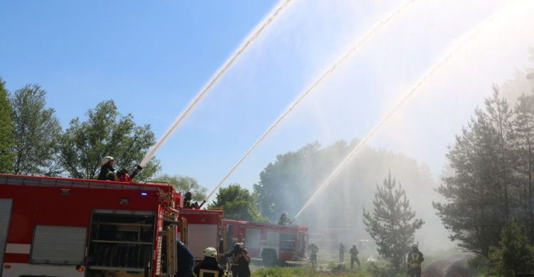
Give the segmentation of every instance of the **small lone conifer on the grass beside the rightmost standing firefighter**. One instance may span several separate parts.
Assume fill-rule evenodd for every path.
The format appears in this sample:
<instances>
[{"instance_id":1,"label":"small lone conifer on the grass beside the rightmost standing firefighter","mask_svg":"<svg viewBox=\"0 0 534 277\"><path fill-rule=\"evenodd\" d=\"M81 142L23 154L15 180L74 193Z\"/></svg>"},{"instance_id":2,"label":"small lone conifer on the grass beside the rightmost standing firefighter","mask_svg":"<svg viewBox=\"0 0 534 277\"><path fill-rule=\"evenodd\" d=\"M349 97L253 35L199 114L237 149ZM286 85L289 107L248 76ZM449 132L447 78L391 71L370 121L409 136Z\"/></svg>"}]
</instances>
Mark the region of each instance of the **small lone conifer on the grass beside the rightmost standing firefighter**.
<instances>
[{"instance_id":1,"label":"small lone conifer on the grass beside the rightmost standing firefighter","mask_svg":"<svg viewBox=\"0 0 534 277\"><path fill-rule=\"evenodd\" d=\"M407 200L402 186L396 188L391 173L384 178L382 187L377 185L372 214L363 210L365 229L375 239L378 253L392 263L396 272L404 264L404 255L414 242L415 231L424 224L422 219L414 219L415 212Z\"/></svg>"}]
</instances>

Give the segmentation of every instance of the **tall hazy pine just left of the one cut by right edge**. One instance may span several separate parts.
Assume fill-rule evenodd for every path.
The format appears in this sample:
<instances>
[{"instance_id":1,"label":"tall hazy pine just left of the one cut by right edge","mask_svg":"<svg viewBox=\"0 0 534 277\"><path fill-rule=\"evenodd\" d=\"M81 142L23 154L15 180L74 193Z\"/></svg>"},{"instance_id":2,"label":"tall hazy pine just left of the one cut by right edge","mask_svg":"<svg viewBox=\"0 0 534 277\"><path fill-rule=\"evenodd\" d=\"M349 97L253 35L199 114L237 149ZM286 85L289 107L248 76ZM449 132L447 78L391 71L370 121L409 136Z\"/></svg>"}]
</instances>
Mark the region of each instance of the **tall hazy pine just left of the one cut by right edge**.
<instances>
[{"instance_id":1,"label":"tall hazy pine just left of the one cut by right edge","mask_svg":"<svg viewBox=\"0 0 534 277\"><path fill-rule=\"evenodd\" d=\"M513 149L513 113L508 104L498 97L486 99L486 109L476 109L475 116L462 134L456 136L456 144L449 148L453 176L444 178L438 192L446 202L434 202L434 208L449 238L458 246L488 257L491 246L500 241L503 225L520 211L516 172L518 158ZM517 141L515 141L517 143Z\"/></svg>"}]
</instances>

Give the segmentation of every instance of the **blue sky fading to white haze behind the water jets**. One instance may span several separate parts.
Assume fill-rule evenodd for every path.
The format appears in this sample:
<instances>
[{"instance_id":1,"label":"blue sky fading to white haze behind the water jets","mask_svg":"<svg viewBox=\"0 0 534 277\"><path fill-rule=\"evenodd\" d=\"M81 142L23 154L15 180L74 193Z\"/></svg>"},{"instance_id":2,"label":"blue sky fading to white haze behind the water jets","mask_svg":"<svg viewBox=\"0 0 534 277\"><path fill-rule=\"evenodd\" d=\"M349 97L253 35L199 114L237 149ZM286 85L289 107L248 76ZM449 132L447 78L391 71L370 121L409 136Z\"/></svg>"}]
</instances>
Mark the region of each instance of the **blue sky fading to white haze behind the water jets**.
<instances>
[{"instance_id":1,"label":"blue sky fading to white haze behind the water jets","mask_svg":"<svg viewBox=\"0 0 534 277\"><path fill-rule=\"evenodd\" d=\"M404 3L291 1L159 148L162 172L214 188L298 95ZM114 99L122 114L150 124L159 139L277 5L0 1L0 75L11 92L30 83L46 89L64 128ZM533 66L532 14L530 0L413 1L338 66L224 185L251 188L277 154L305 143L364 137L419 77L486 22L369 141L439 174L446 146L491 86Z\"/></svg>"}]
</instances>

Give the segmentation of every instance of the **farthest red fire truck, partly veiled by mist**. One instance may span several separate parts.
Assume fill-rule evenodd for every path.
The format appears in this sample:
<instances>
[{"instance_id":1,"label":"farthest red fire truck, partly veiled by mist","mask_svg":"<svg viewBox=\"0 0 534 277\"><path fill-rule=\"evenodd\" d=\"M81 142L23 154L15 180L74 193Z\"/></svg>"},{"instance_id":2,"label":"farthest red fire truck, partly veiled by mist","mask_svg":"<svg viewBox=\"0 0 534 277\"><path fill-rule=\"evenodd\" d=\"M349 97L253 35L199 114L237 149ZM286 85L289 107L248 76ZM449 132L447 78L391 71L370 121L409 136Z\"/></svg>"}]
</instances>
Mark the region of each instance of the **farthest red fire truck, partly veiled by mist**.
<instances>
[{"instance_id":1,"label":"farthest red fire truck, partly veiled by mist","mask_svg":"<svg viewBox=\"0 0 534 277\"><path fill-rule=\"evenodd\" d=\"M305 259L308 227L278 225L224 219L226 240L230 246L244 243L248 255L267 264Z\"/></svg>"}]
</instances>

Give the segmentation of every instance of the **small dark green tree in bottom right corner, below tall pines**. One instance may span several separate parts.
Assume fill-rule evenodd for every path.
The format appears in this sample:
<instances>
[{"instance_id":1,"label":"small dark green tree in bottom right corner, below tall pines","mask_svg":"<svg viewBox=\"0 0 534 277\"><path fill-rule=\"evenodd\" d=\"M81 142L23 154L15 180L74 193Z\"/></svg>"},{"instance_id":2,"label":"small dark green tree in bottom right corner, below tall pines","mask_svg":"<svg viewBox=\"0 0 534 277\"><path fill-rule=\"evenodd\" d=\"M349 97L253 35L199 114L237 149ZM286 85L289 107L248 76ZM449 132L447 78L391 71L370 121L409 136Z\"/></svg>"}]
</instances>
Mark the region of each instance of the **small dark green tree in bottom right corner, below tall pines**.
<instances>
[{"instance_id":1,"label":"small dark green tree in bottom right corner, below tall pines","mask_svg":"<svg viewBox=\"0 0 534 277\"><path fill-rule=\"evenodd\" d=\"M503 227L499 247L491 247L488 266L498 276L534 273L534 247L528 244L523 226L515 218Z\"/></svg>"}]
</instances>

